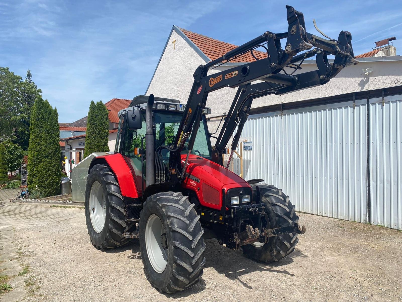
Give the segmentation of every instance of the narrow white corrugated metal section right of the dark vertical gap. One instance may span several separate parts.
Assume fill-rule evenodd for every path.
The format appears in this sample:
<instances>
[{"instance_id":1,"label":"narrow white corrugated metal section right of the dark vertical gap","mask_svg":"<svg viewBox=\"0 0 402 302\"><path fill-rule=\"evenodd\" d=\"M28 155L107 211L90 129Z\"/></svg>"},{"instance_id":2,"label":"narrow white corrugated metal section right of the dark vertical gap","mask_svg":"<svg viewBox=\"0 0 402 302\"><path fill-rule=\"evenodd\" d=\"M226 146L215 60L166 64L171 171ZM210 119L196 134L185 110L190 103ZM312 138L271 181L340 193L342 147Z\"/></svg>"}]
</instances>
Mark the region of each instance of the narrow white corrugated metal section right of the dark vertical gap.
<instances>
[{"instance_id":1,"label":"narrow white corrugated metal section right of the dark vertical gap","mask_svg":"<svg viewBox=\"0 0 402 302\"><path fill-rule=\"evenodd\" d=\"M371 223L402 230L402 96L370 100Z\"/></svg>"}]
</instances>

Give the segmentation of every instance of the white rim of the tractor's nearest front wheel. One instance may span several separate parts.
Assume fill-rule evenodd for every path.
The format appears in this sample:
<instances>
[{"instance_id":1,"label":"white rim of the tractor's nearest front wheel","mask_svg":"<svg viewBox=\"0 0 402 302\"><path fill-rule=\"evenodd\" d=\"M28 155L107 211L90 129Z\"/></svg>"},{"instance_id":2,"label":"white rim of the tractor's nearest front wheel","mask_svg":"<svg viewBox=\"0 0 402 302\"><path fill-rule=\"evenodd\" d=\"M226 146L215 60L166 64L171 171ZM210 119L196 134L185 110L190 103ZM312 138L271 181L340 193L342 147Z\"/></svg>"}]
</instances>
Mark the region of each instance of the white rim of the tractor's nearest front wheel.
<instances>
[{"instance_id":1,"label":"white rim of the tractor's nearest front wheel","mask_svg":"<svg viewBox=\"0 0 402 302\"><path fill-rule=\"evenodd\" d=\"M165 240L164 246L162 240ZM152 267L157 273L162 273L168 263L166 232L162 221L155 214L148 218L145 226L145 246Z\"/></svg>"}]
</instances>

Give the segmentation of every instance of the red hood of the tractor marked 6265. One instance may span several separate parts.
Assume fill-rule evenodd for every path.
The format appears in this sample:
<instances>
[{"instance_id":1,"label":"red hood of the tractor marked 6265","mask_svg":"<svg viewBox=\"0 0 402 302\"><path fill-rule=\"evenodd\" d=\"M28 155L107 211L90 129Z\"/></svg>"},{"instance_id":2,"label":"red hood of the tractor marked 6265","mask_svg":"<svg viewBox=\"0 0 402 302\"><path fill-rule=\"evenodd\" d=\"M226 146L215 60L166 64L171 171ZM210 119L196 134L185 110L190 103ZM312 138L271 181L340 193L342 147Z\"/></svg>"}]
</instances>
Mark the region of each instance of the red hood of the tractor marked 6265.
<instances>
[{"instance_id":1,"label":"red hood of the tractor marked 6265","mask_svg":"<svg viewBox=\"0 0 402 302\"><path fill-rule=\"evenodd\" d=\"M181 155L184 165L186 155ZM190 155L187 162L187 176L183 181L185 188L195 191L201 203L206 207L221 209L222 190L232 188L250 188L250 185L232 171L197 155Z\"/></svg>"}]
</instances>

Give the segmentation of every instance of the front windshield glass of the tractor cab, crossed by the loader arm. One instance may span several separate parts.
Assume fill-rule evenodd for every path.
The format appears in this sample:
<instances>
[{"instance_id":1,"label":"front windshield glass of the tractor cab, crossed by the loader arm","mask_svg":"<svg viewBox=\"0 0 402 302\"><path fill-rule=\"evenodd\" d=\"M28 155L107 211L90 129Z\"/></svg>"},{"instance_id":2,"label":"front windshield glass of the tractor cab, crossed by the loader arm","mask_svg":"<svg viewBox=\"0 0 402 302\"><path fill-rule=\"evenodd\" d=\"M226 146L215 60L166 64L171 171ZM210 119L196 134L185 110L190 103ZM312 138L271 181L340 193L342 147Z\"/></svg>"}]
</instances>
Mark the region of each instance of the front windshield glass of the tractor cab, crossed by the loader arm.
<instances>
[{"instance_id":1,"label":"front windshield glass of the tractor cab, crossed by the loader arm","mask_svg":"<svg viewBox=\"0 0 402 302\"><path fill-rule=\"evenodd\" d=\"M172 112L155 112L155 148L162 145L172 145L178 131L178 126L180 125L181 117L181 114L172 114ZM211 159L211 141L207 132L205 116L202 119L191 154ZM189 140L187 139L181 151L182 154L187 154L188 142Z\"/></svg>"}]
</instances>

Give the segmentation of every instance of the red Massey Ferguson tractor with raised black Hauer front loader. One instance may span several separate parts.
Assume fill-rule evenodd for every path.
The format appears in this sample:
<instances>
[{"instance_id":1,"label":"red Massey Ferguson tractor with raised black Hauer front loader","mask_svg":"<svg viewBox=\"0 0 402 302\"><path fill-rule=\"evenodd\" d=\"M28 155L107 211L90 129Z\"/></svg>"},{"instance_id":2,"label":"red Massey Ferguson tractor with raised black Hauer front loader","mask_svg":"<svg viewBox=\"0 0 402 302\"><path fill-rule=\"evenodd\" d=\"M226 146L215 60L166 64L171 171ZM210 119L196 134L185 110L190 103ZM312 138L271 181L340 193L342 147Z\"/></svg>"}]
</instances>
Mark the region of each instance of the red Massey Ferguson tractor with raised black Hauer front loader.
<instances>
[{"instance_id":1,"label":"red Massey Ferguson tractor with raised black Hauer front loader","mask_svg":"<svg viewBox=\"0 0 402 302\"><path fill-rule=\"evenodd\" d=\"M359 62L349 32L341 31L336 40L318 37L306 31L301 12L286 9L287 32L266 31L198 66L185 105L154 95L134 97L119 112L114 154L94 157L90 164L85 215L92 244L105 250L139 238L145 274L162 293L197 283L206 261L204 239L216 238L269 263L291 254L297 235L306 232L281 189L228 170L253 99L323 85ZM267 57L257 59L256 48L264 48ZM207 74L246 52L256 60ZM313 56L317 69L301 72L301 63ZM206 102L210 92L223 87L238 90L213 137ZM226 149L230 141L231 151ZM230 154L226 167L222 154Z\"/></svg>"}]
</instances>

